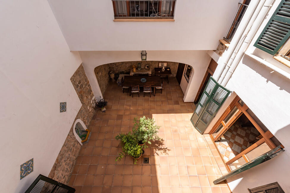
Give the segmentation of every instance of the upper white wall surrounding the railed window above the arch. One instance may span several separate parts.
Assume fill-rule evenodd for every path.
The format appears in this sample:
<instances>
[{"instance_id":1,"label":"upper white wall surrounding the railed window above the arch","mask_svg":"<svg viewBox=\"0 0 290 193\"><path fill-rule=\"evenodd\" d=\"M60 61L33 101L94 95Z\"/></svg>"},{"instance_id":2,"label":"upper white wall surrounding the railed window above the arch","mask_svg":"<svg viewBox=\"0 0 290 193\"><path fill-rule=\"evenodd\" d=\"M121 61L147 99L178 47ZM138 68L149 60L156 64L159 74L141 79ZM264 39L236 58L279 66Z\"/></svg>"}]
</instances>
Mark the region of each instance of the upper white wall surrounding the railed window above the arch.
<instances>
[{"instance_id":1,"label":"upper white wall surrounding the railed window above the arch","mask_svg":"<svg viewBox=\"0 0 290 193\"><path fill-rule=\"evenodd\" d=\"M214 50L240 0L176 1L175 21L113 21L112 1L48 0L70 50Z\"/></svg>"}]
</instances>

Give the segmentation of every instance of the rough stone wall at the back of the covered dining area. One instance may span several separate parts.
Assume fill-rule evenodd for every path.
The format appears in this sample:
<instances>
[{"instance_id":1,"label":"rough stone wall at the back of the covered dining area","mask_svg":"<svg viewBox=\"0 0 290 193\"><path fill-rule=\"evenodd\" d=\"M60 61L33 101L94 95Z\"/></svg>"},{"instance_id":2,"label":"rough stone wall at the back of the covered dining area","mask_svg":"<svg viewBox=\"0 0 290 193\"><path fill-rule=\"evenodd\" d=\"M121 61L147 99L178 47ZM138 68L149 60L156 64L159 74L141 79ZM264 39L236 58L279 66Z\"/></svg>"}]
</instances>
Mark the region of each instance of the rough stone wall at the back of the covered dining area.
<instances>
[{"instance_id":1,"label":"rough stone wall at the back of the covered dining area","mask_svg":"<svg viewBox=\"0 0 290 193\"><path fill-rule=\"evenodd\" d=\"M138 63L141 63L141 68L144 69L146 64L151 65L152 75L154 75L154 68L157 68L161 61L127 61L127 62L115 62L110 64L103 64L101 66L95 67L95 75L98 80L102 94L106 91L108 83L110 81L109 71L115 72L115 74L120 74L121 72L130 73L131 66L135 65L137 67ZM170 67L172 75L176 76L178 62L167 62L167 67ZM137 70L138 71L138 70Z\"/></svg>"}]
</instances>

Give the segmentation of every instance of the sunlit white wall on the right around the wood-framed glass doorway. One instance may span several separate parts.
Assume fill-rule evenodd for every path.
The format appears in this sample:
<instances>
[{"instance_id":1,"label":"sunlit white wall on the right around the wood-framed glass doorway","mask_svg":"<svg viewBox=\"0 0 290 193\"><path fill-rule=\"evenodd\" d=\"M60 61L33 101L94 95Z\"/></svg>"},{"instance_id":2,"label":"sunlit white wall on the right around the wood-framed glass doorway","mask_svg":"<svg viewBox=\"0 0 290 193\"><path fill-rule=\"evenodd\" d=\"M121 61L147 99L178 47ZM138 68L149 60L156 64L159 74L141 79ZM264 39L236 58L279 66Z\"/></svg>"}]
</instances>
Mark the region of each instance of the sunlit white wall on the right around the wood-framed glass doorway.
<instances>
[{"instance_id":1,"label":"sunlit white wall on the right around the wood-framed glass doorway","mask_svg":"<svg viewBox=\"0 0 290 193\"><path fill-rule=\"evenodd\" d=\"M255 56L289 73L290 68L274 60L272 55L253 47L254 42L261 34L279 3L279 0L274 2L246 52L253 53ZM209 52L209 54L213 55L212 52ZM214 59L216 61L221 60L221 58L217 57L214 57ZM285 192L290 192L288 178L290 173L290 80L278 72L271 72L272 69L269 67L244 55L231 79L226 84L226 88L234 91L285 146L285 152L274 159L229 178L228 184L233 193L247 192L247 188L254 188L276 181ZM231 99L228 99L223 104L217 116L211 121L207 132L220 118L220 115L230 102Z\"/></svg>"}]
</instances>

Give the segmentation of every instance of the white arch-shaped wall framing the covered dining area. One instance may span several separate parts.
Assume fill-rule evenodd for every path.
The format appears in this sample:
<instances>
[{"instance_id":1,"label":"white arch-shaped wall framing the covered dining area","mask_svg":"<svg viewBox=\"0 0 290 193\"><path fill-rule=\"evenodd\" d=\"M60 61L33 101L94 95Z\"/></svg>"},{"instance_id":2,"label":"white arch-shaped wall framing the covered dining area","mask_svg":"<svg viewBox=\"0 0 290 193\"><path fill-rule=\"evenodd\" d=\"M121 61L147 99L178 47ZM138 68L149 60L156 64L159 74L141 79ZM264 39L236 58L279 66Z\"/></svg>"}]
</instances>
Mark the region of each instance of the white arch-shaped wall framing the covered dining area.
<instances>
[{"instance_id":1,"label":"white arch-shaped wall framing the covered dining area","mask_svg":"<svg viewBox=\"0 0 290 193\"><path fill-rule=\"evenodd\" d=\"M95 67L113 62L138 61L141 59L140 51L80 51L79 53L96 97L102 97L102 94L95 76ZM148 61L181 62L193 67L191 78L184 92L184 102L194 101L210 59L206 51L147 51Z\"/></svg>"}]
</instances>

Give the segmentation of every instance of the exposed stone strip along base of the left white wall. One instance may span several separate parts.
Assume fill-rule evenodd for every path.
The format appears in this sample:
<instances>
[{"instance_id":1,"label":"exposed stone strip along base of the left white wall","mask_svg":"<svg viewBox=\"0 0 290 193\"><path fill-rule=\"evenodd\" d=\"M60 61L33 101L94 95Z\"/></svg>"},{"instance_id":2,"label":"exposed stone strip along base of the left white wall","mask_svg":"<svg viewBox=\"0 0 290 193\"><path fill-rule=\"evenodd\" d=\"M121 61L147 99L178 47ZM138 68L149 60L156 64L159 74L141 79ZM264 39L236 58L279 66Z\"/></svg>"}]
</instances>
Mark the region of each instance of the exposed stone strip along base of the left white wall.
<instances>
[{"instance_id":1,"label":"exposed stone strip along base of the left white wall","mask_svg":"<svg viewBox=\"0 0 290 193\"><path fill-rule=\"evenodd\" d=\"M67 184L69 181L73 167L76 163L76 158L81 149L81 145L73 135L73 124L76 119L81 119L87 128L89 128L90 121L95 114L95 110L91 105L91 99L94 94L82 64L70 78L70 81L79 96L82 106L72 123L70 132L68 133L59 155L57 156L57 159L55 160L54 165L48 175L49 178L64 184Z\"/></svg>"}]
</instances>

